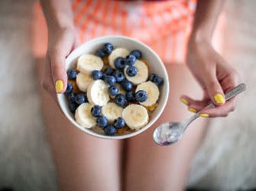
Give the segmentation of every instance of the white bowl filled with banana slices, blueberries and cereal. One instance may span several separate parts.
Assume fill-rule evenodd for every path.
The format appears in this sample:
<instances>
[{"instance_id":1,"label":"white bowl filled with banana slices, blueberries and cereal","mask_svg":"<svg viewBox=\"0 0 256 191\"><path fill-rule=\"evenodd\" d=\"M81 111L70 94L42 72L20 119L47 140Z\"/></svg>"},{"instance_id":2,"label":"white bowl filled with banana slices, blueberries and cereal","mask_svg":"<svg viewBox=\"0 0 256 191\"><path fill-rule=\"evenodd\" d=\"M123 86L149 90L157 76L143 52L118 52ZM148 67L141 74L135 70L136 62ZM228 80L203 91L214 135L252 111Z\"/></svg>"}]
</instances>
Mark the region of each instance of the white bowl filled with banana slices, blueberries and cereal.
<instances>
[{"instance_id":1,"label":"white bowl filled with banana slices, blueberries and cereal","mask_svg":"<svg viewBox=\"0 0 256 191\"><path fill-rule=\"evenodd\" d=\"M98 37L66 58L66 118L98 138L130 138L150 128L167 104L169 83L160 57L139 40Z\"/></svg>"}]
</instances>

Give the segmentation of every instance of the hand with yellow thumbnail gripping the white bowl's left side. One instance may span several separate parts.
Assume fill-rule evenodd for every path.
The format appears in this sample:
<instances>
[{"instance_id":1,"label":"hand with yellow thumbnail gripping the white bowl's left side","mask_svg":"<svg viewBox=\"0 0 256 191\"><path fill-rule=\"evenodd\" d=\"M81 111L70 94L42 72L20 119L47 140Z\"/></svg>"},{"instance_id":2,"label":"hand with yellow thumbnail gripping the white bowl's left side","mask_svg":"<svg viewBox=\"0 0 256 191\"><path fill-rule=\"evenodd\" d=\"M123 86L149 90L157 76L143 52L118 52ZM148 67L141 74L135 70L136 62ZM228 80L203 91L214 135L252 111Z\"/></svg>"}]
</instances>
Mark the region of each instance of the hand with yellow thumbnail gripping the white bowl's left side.
<instances>
[{"instance_id":1,"label":"hand with yellow thumbnail gripping the white bowl's left side","mask_svg":"<svg viewBox=\"0 0 256 191\"><path fill-rule=\"evenodd\" d=\"M48 31L47 63L42 85L56 99L56 92L63 93L66 90L65 59L77 45L76 31L74 28L54 28Z\"/></svg>"}]
</instances>

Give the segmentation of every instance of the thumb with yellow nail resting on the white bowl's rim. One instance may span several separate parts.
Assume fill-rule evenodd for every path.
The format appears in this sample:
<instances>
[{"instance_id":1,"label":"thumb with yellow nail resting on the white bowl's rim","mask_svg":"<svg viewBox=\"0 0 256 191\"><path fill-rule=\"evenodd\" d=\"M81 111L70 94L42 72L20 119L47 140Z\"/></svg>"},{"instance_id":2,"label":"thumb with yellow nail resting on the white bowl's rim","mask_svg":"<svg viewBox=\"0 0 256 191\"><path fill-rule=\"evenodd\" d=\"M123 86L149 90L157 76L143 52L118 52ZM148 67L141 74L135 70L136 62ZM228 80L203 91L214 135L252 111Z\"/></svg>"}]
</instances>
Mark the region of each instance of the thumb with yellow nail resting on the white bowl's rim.
<instances>
[{"instance_id":1,"label":"thumb with yellow nail resting on the white bowl's rim","mask_svg":"<svg viewBox=\"0 0 256 191\"><path fill-rule=\"evenodd\" d=\"M65 56L58 52L50 54L51 75L55 92L63 93L66 90L67 76L65 69Z\"/></svg>"}]
</instances>

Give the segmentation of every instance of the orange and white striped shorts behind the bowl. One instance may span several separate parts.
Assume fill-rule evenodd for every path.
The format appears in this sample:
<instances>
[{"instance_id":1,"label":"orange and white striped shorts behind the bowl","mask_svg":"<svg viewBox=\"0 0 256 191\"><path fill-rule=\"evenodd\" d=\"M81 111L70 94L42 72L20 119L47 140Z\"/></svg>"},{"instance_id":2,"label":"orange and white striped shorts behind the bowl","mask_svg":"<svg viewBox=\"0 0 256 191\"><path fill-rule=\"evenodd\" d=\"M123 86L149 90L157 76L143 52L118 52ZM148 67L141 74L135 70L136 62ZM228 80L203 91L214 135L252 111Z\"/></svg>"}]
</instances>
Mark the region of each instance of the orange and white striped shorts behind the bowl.
<instances>
[{"instance_id":1,"label":"orange and white striped shorts behind the bowl","mask_svg":"<svg viewBox=\"0 0 256 191\"><path fill-rule=\"evenodd\" d=\"M184 63L195 7L196 0L73 0L72 4L81 44L112 34L134 37L151 47L164 63ZM38 54L38 49L47 47L42 45L45 21L40 6L35 8L35 18L34 48Z\"/></svg>"}]
</instances>

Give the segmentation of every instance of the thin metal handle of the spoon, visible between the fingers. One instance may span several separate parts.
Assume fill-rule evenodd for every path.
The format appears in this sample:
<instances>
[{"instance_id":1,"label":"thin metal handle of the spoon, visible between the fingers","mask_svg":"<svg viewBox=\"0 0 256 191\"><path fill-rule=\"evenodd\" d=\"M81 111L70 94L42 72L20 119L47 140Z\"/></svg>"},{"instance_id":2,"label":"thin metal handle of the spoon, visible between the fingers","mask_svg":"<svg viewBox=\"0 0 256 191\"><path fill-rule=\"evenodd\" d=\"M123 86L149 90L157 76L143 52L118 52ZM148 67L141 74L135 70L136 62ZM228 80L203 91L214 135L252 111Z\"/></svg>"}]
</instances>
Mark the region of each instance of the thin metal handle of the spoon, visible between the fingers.
<instances>
[{"instance_id":1,"label":"thin metal handle of the spoon, visible between the fingers","mask_svg":"<svg viewBox=\"0 0 256 191\"><path fill-rule=\"evenodd\" d=\"M235 95L238 95L239 93L244 92L245 89L246 89L245 83L240 83L238 86L235 86L235 88L225 93L225 101L228 101L229 99L232 99L233 97L235 97ZM214 107L215 107L215 104L211 102L205 108L214 108ZM195 115L193 115L190 118L190 122L195 120L198 117L199 117L199 112L197 112Z\"/></svg>"}]
</instances>

